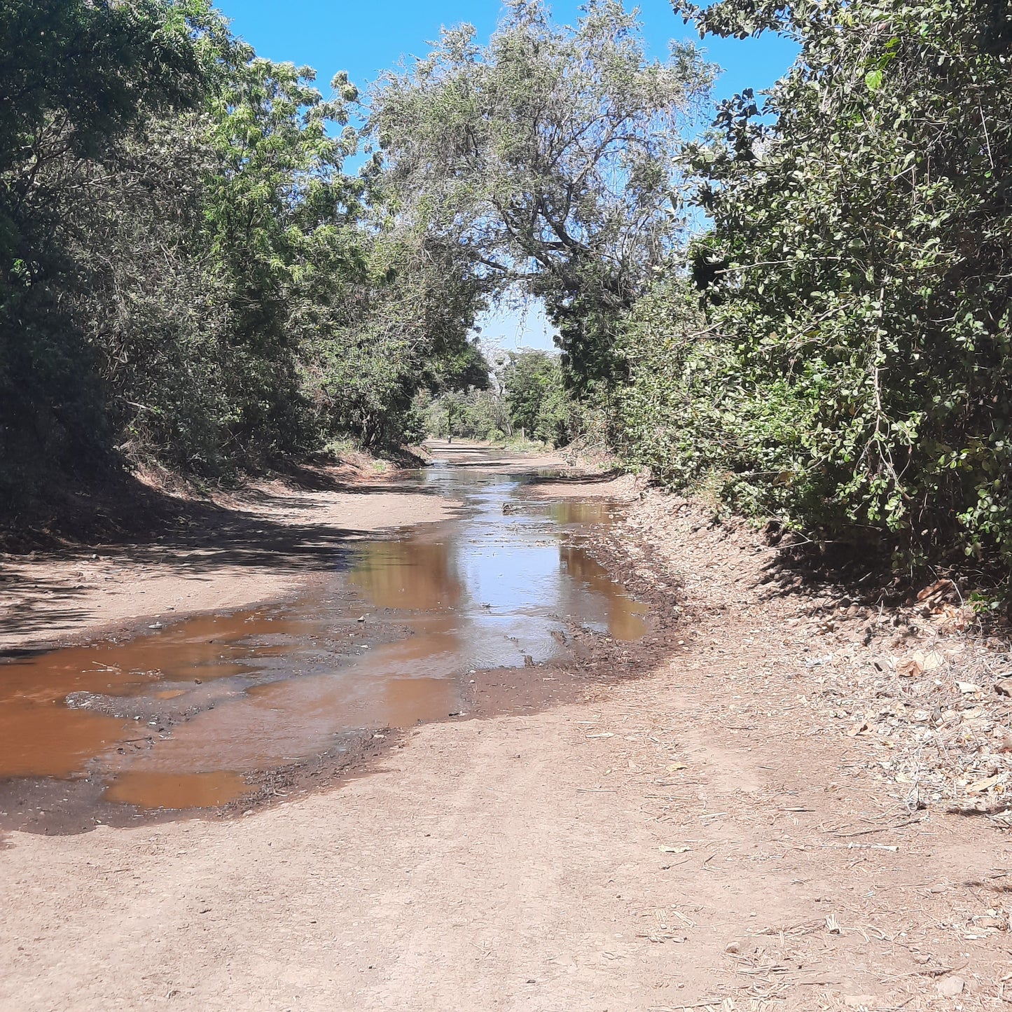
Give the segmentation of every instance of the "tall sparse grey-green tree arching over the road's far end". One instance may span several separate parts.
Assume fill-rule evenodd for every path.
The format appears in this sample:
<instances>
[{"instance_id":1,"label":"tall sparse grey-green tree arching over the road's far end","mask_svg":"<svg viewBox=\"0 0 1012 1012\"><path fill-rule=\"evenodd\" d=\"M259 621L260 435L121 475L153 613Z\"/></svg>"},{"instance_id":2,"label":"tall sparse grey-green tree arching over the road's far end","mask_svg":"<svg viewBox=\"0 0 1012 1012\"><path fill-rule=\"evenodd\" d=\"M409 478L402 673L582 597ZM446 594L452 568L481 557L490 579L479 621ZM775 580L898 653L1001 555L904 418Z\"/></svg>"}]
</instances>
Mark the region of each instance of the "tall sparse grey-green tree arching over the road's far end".
<instances>
[{"instance_id":1,"label":"tall sparse grey-green tree arching over the road's far end","mask_svg":"<svg viewBox=\"0 0 1012 1012\"><path fill-rule=\"evenodd\" d=\"M571 375L606 376L615 321L680 234L679 128L711 69L650 61L635 16L592 0L576 28L511 0L488 47L471 25L383 78L369 131L396 200L467 253L490 290L544 299Z\"/></svg>"}]
</instances>

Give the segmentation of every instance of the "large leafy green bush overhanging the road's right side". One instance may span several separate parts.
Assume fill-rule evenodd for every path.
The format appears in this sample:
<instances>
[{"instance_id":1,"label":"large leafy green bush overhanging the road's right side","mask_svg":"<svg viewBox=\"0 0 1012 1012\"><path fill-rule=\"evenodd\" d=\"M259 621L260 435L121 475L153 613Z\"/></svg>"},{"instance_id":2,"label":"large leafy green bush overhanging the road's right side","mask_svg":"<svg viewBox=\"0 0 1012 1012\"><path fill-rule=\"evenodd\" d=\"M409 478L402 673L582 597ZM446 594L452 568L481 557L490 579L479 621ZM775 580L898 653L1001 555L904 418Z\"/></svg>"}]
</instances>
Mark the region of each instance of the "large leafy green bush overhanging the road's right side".
<instances>
[{"instance_id":1,"label":"large leafy green bush overhanging the road's right side","mask_svg":"<svg viewBox=\"0 0 1012 1012\"><path fill-rule=\"evenodd\" d=\"M694 13L782 31L802 56L765 110L738 96L690 148L713 221L693 257L709 326L674 282L634 311L626 451L897 565L1012 562L1012 11Z\"/></svg>"}]
</instances>

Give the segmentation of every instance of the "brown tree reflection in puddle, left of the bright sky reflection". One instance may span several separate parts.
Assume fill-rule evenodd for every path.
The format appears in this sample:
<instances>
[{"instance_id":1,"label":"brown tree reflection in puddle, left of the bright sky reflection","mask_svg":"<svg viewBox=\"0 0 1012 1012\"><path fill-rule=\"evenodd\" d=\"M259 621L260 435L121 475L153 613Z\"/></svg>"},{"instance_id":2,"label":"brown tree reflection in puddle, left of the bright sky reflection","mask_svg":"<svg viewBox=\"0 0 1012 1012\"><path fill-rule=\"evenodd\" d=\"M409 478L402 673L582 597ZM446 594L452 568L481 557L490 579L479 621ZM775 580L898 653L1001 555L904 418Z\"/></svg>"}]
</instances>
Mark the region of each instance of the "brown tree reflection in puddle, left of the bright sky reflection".
<instances>
[{"instance_id":1,"label":"brown tree reflection in puddle, left of the bright sky reflection","mask_svg":"<svg viewBox=\"0 0 1012 1012\"><path fill-rule=\"evenodd\" d=\"M367 545L351 582L380 608L452 607L463 591L448 545L414 538Z\"/></svg>"}]
</instances>

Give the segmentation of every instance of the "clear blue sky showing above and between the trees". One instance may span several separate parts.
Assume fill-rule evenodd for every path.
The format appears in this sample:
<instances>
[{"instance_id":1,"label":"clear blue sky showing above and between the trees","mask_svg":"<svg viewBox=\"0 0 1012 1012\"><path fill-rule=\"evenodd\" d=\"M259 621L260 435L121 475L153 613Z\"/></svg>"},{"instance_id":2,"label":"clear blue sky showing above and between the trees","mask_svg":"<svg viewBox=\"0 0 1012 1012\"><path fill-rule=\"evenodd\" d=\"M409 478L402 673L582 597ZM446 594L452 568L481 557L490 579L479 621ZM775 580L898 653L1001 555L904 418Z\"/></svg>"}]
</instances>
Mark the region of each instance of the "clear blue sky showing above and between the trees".
<instances>
[{"instance_id":1,"label":"clear blue sky showing above and between the trees","mask_svg":"<svg viewBox=\"0 0 1012 1012\"><path fill-rule=\"evenodd\" d=\"M318 72L318 84L327 94L339 70L364 87L402 57L423 56L426 41L442 25L469 21L483 40L495 28L499 0L220 0L219 9L232 29L250 43L258 55L289 60ZM580 0L552 5L557 21L572 24ZM638 4L644 35L652 56L667 56L672 38L698 41L698 35L676 17L668 0ZM701 43L707 57L724 68L715 97L725 98L743 88L768 88L790 66L795 49L775 37L758 39L707 38ZM502 311L481 321L486 337L499 338L504 347L551 348L552 339L537 307L527 314Z\"/></svg>"}]
</instances>

